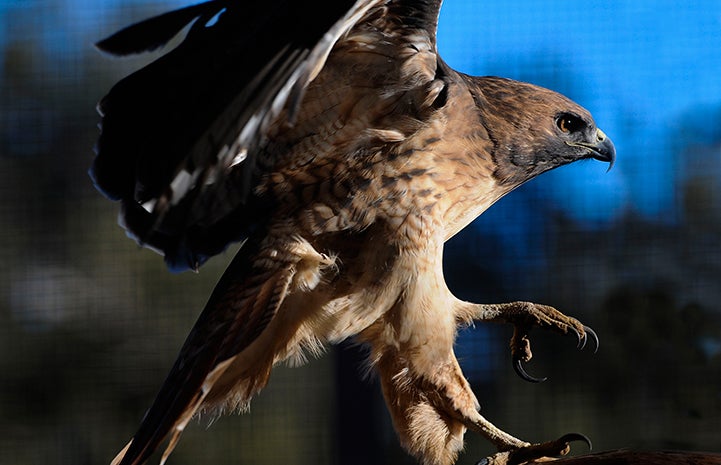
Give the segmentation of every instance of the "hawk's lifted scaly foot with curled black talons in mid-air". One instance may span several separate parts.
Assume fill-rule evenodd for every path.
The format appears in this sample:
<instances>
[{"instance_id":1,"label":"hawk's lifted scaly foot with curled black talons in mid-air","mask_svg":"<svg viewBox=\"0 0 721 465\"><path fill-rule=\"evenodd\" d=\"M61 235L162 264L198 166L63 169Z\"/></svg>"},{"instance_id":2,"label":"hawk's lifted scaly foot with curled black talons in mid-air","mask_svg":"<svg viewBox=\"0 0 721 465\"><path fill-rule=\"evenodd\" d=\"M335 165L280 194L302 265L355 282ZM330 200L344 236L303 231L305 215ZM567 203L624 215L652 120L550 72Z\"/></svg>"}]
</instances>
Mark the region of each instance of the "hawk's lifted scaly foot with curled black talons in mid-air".
<instances>
[{"instance_id":1,"label":"hawk's lifted scaly foot with curled black talons in mid-air","mask_svg":"<svg viewBox=\"0 0 721 465\"><path fill-rule=\"evenodd\" d=\"M467 321L481 320L512 324L514 326L513 336L511 337L513 368L526 381L540 382L545 380L545 378L530 376L523 368L523 363L531 360L533 356L528 334L534 326L551 329L562 334L569 332L575 334L578 339L579 349L584 348L590 339L594 345L594 351L598 350L598 336L591 328L548 305L531 302L503 304L471 304L464 302L460 316Z\"/></svg>"}]
</instances>

